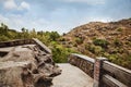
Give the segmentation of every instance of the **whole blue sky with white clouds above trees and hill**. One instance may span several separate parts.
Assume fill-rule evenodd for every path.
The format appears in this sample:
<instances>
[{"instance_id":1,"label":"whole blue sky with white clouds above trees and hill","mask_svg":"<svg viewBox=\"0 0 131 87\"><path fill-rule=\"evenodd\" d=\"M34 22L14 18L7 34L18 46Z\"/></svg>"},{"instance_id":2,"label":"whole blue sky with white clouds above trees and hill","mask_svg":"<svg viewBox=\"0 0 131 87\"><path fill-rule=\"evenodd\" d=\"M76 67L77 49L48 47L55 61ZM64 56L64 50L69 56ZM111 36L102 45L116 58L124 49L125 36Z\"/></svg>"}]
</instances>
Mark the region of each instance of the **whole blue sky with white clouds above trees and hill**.
<instances>
[{"instance_id":1,"label":"whole blue sky with white clouds above trees and hill","mask_svg":"<svg viewBox=\"0 0 131 87\"><path fill-rule=\"evenodd\" d=\"M88 22L131 17L131 0L0 0L0 23L21 30L68 33Z\"/></svg>"}]
</instances>

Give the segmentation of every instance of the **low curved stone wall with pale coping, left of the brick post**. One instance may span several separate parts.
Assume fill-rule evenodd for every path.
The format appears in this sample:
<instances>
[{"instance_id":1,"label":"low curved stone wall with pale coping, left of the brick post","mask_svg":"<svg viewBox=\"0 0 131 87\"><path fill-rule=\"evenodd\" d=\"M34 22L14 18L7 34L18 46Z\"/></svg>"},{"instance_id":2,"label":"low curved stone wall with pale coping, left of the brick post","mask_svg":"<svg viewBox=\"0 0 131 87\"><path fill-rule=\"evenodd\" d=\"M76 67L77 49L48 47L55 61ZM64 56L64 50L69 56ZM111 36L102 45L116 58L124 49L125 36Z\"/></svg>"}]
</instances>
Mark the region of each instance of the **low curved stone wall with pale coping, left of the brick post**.
<instances>
[{"instance_id":1,"label":"low curved stone wall with pale coping, left of the brick post","mask_svg":"<svg viewBox=\"0 0 131 87\"><path fill-rule=\"evenodd\" d=\"M81 69L91 77L94 76L94 63L95 60L86 55L72 53L70 54L68 62Z\"/></svg>"}]
</instances>

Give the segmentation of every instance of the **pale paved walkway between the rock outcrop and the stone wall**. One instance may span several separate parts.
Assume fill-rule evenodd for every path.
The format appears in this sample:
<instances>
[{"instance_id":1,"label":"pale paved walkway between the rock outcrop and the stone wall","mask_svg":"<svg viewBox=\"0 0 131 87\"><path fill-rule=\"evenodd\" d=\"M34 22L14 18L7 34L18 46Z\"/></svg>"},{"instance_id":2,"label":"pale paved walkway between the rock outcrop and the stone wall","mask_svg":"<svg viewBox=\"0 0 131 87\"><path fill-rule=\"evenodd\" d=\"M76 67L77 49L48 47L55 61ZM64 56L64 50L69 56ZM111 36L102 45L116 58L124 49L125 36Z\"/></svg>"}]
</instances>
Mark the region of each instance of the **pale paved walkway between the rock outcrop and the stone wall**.
<instances>
[{"instance_id":1,"label":"pale paved walkway between the rock outcrop and the stone wall","mask_svg":"<svg viewBox=\"0 0 131 87\"><path fill-rule=\"evenodd\" d=\"M62 70L62 74L53 78L51 87L93 87L93 78L80 69L68 63L58 65Z\"/></svg>"}]
</instances>

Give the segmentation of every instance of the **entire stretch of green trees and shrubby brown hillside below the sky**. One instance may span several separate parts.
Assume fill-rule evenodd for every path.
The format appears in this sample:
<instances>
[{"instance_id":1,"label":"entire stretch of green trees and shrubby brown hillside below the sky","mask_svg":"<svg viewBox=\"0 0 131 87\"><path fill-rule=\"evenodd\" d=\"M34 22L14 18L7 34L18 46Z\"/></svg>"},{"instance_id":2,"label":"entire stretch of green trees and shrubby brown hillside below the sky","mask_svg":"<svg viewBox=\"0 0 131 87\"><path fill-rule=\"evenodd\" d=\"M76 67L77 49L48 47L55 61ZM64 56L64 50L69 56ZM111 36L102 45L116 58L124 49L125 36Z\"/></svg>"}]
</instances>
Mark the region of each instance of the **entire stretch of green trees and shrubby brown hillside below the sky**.
<instances>
[{"instance_id":1,"label":"entire stretch of green trees and shrubby brown hillside below the sky","mask_svg":"<svg viewBox=\"0 0 131 87\"><path fill-rule=\"evenodd\" d=\"M110 62L131 70L130 24L131 20L111 23L94 22L76 27L63 36L57 32L35 32L24 27L22 32L16 32L1 24L0 41L38 38L52 50L55 62L67 62L70 53L79 52L91 58L105 57Z\"/></svg>"}]
</instances>

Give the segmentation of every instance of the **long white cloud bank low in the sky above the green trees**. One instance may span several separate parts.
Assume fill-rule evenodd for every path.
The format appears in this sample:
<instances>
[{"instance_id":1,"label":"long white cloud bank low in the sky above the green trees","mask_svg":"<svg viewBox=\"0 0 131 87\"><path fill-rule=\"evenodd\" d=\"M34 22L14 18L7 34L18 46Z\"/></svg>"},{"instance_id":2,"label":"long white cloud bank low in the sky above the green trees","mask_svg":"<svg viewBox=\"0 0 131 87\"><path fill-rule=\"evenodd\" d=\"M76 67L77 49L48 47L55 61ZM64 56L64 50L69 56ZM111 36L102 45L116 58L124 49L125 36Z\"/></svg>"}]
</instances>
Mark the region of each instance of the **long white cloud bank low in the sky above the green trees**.
<instances>
[{"instance_id":1,"label":"long white cloud bank low in the sky above the green trees","mask_svg":"<svg viewBox=\"0 0 131 87\"><path fill-rule=\"evenodd\" d=\"M0 23L4 23L9 26L9 28L16 29L21 32L22 27L27 28L28 30L32 30L35 28L36 30L48 30L48 32L53 32L57 30L58 33L62 34L67 30L69 25L67 26L64 23L59 24L56 21L55 22L49 22L45 18L28 18L26 20L26 16L21 16L21 15L10 15L10 16L4 16L0 14ZM66 27L67 26L67 27Z\"/></svg>"}]
</instances>

